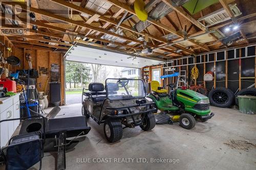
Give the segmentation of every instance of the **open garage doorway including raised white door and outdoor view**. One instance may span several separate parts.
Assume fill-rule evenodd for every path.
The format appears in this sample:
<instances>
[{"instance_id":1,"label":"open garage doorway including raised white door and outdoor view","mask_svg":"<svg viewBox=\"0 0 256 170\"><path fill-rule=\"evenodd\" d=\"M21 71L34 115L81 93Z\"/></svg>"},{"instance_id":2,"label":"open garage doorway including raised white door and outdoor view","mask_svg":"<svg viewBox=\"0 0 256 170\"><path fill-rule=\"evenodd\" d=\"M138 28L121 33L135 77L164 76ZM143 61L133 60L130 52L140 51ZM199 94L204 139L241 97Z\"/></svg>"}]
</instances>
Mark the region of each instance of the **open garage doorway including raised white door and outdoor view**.
<instances>
[{"instance_id":1,"label":"open garage doorway including raised white door and outdoor view","mask_svg":"<svg viewBox=\"0 0 256 170\"><path fill-rule=\"evenodd\" d=\"M163 62L160 58L127 54L85 44L73 45L65 56L66 104L80 103L82 87L88 87L89 83L104 84L106 78L138 79L141 67ZM133 86L132 81L130 85Z\"/></svg>"}]
</instances>

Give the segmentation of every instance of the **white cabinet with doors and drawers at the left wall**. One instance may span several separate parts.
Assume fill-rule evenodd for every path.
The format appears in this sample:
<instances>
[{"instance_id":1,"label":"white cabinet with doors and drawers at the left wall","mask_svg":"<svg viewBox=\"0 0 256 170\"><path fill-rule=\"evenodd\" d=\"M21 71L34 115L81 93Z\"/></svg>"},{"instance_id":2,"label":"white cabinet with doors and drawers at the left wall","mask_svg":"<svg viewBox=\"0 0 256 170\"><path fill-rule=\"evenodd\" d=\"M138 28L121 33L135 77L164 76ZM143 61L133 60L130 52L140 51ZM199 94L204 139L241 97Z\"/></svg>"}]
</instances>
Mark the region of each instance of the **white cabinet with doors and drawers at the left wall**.
<instances>
[{"instance_id":1,"label":"white cabinet with doors and drawers at the left wall","mask_svg":"<svg viewBox=\"0 0 256 170\"><path fill-rule=\"evenodd\" d=\"M19 94L9 98L0 98L0 120L19 118ZM0 145L4 147L19 125L19 120L0 124Z\"/></svg>"}]
</instances>

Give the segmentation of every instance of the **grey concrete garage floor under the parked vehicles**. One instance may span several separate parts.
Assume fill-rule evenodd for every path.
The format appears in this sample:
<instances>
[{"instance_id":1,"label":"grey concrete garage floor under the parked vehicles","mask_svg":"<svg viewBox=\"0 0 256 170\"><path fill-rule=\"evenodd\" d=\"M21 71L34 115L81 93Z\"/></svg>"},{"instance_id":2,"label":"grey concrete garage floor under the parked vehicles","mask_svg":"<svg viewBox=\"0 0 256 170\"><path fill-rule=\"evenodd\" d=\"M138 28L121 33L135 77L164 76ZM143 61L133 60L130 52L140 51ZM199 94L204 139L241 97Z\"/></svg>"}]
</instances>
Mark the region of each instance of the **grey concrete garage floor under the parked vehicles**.
<instances>
[{"instance_id":1,"label":"grey concrete garage floor under the parked vehicles","mask_svg":"<svg viewBox=\"0 0 256 170\"><path fill-rule=\"evenodd\" d=\"M81 104L62 106L58 115L80 115L80 110ZM103 125L98 126L89 118L91 131L66 153L67 169L256 169L256 147L245 151L224 144L230 139L256 144L256 115L243 114L237 109L211 107L211 110L215 116L206 123L197 123L192 130L183 129L178 123L156 125L150 132L139 127L127 128L121 141L112 144L104 137ZM80 158L82 161L91 158L91 163L77 162ZM93 158L112 160L93 163ZM135 158L135 163L127 159L126 163L116 163L115 158ZM146 158L148 163L137 163L136 158ZM179 159L179 162L150 163L150 158ZM54 156L46 153L42 169L54 166Z\"/></svg>"}]
</instances>

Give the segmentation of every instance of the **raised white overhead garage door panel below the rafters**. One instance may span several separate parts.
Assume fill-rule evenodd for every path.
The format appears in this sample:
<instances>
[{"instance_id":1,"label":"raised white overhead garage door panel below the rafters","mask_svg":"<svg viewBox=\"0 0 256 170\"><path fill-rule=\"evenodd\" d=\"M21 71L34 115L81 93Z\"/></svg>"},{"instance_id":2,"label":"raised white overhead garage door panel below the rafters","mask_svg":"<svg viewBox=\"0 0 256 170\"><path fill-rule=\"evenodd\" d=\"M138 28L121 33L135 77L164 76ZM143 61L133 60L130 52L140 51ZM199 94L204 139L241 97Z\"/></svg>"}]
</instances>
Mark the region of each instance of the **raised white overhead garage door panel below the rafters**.
<instances>
[{"instance_id":1,"label":"raised white overhead garage door panel below the rafters","mask_svg":"<svg viewBox=\"0 0 256 170\"><path fill-rule=\"evenodd\" d=\"M134 68L157 65L164 62L161 58L158 59L127 54L85 44L76 44L72 46L65 56L68 61Z\"/></svg>"}]
</instances>

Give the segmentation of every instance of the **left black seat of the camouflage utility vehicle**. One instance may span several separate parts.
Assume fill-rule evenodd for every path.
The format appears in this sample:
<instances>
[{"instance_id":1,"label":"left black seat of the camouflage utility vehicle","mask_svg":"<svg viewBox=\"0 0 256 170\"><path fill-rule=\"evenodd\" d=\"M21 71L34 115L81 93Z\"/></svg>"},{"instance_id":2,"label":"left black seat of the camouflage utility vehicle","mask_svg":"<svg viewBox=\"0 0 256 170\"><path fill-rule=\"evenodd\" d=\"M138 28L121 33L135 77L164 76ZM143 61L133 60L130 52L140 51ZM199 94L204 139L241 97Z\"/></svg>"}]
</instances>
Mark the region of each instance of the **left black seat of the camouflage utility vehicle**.
<instances>
[{"instance_id":1,"label":"left black seat of the camouflage utility vehicle","mask_svg":"<svg viewBox=\"0 0 256 170\"><path fill-rule=\"evenodd\" d=\"M92 92L89 95L89 100L93 102L103 102L106 98L106 92L102 92L104 91L104 85L102 83L90 83L89 91Z\"/></svg>"}]
</instances>

